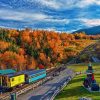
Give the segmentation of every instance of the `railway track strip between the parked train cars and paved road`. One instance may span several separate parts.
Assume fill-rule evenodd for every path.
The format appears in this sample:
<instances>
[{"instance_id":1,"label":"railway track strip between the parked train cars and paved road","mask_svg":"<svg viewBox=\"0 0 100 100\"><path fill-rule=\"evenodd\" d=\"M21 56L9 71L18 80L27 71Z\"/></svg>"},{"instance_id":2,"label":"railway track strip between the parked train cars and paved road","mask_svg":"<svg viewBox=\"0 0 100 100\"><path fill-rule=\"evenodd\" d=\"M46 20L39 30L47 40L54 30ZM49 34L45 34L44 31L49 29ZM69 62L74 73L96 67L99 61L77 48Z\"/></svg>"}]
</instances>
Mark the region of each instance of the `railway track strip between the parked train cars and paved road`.
<instances>
[{"instance_id":1,"label":"railway track strip between the parked train cars and paved road","mask_svg":"<svg viewBox=\"0 0 100 100\"><path fill-rule=\"evenodd\" d=\"M21 94L24 94L25 92L29 91L29 90L34 90L36 87L42 85L43 83L49 81L49 80L52 80L53 77L52 77L52 74L54 73L54 71L58 70L59 67L51 67L51 68L48 68L46 69L47 71L47 77L44 78L44 79L41 79L39 81L37 81L36 83L34 84L26 84L26 85L23 85L23 87L21 87L20 89L16 89L12 92L7 92L7 93L2 93L0 95L0 100L10 100L11 98L11 94L12 93L16 93L16 96L19 96Z\"/></svg>"}]
</instances>

